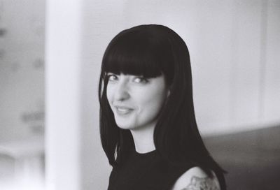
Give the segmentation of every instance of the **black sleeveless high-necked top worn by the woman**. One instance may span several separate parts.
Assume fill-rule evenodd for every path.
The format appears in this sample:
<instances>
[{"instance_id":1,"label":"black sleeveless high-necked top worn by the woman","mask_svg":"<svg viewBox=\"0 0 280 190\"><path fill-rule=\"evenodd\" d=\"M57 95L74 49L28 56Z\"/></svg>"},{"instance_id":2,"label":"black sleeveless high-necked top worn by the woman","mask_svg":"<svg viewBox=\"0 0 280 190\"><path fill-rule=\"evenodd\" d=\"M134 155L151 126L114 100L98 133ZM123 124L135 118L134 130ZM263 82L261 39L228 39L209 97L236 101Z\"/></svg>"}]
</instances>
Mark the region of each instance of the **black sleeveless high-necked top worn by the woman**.
<instances>
[{"instance_id":1,"label":"black sleeveless high-necked top worn by the woman","mask_svg":"<svg viewBox=\"0 0 280 190\"><path fill-rule=\"evenodd\" d=\"M170 190L178 178L195 164L174 166L156 150L140 154L131 152L123 166L114 167L108 190Z\"/></svg>"}]
</instances>

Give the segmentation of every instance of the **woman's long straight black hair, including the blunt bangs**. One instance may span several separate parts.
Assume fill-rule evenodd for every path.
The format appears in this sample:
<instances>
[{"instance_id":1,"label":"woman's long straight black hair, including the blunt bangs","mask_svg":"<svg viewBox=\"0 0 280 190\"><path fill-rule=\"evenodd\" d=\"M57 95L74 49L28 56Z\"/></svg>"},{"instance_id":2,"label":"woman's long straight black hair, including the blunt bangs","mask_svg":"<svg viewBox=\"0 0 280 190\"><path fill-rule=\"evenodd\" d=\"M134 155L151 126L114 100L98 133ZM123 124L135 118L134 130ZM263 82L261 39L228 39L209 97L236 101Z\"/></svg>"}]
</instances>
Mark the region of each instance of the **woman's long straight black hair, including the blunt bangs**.
<instances>
[{"instance_id":1,"label":"woman's long straight black hair, including the blunt bangs","mask_svg":"<svg viewBox=\"0 0 280 190\"><path fill-rule=\"evenodd\" d=\"M170 163L195 162L209 176L216 173L225 189L223 169L207 151L195 120L193 85L188 47L175 31L145 24L121 31L109 43L102 59L99 80L100 136L111 166L118 166L134 149L129 130L120 129L106 98L106 73L164 75L170 94L155 126L155 148Z\"/></svg>"}]
</instances>

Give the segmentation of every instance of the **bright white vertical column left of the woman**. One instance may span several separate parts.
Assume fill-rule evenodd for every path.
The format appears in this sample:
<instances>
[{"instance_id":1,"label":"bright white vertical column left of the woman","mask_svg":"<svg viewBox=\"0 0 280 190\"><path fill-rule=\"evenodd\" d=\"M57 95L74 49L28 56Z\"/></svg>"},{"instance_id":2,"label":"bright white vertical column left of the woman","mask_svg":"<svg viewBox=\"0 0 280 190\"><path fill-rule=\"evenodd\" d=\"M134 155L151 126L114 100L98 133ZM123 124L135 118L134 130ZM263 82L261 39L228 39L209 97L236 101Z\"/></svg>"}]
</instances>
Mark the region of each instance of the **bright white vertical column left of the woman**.
<instances>
[{"instance_id":1,"label":"bright white vertical column left of the woman","mask_svg":"<svg viewBox=\"0 0 280 190\"><path fill-rule=\"evenodd\" d=\"M46 186L80 189L80 0L46 1Z\"/></svg>"}]
</instances>

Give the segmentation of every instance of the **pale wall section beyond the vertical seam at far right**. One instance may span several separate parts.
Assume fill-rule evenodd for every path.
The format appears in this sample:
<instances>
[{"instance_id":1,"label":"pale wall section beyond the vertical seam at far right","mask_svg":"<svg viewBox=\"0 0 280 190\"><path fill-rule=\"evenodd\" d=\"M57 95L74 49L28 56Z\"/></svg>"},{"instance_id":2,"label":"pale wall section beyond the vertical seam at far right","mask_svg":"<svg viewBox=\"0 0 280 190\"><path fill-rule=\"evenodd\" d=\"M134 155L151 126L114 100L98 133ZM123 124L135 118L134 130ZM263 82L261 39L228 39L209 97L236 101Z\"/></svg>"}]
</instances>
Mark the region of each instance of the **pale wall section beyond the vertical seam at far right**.
<instances>
[{"instance_id":1,"label":"pale wall section beyond the vertical seam at far right","mask_svg":"<svg viewBox=\"0 0 280 190\"><path fill-rule=\"evenodd\" d=\"M267 14L266 35L266 65L263 82L263 112L262 121L265 123L279 121L280 118L280 2L269 1Z\"/></svg>"}]
</instances>

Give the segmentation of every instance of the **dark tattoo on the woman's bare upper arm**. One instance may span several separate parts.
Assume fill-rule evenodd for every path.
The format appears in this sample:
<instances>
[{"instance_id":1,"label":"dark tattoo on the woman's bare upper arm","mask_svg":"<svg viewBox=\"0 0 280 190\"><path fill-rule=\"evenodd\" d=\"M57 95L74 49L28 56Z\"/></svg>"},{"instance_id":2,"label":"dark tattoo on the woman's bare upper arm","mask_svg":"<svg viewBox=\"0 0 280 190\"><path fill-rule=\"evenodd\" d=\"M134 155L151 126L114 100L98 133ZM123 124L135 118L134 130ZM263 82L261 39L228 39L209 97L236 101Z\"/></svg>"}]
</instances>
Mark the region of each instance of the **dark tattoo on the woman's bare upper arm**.
<instances>
[{"instance_id":1,"label":"dark tattoo on the woman's bare upper arm","mask_svg":"<svg viewBox=\"0 0 280 190\"><path fill-rule=\"evenodd\" d=\"M190 184L181 190L220 190L218 181L210 177L193 176Z\"/></svg>"}]
</instances>

